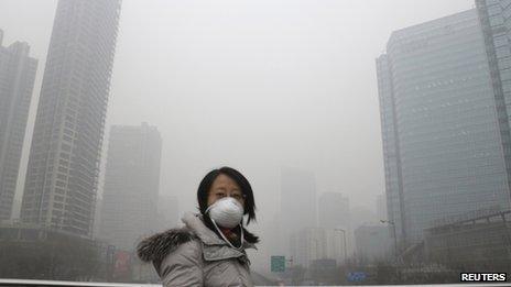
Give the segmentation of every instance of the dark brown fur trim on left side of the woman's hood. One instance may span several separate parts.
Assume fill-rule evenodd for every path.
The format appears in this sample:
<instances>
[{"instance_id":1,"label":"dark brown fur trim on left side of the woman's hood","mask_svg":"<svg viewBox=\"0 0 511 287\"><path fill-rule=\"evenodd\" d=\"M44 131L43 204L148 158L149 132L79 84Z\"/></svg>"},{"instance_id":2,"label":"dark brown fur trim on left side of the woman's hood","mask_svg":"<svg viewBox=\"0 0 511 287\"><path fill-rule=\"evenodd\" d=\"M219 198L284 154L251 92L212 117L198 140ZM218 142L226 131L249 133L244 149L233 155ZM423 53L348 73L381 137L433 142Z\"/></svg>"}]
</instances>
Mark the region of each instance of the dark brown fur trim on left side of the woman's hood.
<instances>
[{"instance_id":1,"label":"dark brown fur trim on left side of the woman's hood","mask_svg":"<svg viewBox=\"0 0 511 287\"><path fill-rule=\"evenodd\" d=\"M181 245L197 241L198 236L187 227L170 229L142 240L137 246L137 254L143 262L162 262Z\"/></svg>"}]
</instances>

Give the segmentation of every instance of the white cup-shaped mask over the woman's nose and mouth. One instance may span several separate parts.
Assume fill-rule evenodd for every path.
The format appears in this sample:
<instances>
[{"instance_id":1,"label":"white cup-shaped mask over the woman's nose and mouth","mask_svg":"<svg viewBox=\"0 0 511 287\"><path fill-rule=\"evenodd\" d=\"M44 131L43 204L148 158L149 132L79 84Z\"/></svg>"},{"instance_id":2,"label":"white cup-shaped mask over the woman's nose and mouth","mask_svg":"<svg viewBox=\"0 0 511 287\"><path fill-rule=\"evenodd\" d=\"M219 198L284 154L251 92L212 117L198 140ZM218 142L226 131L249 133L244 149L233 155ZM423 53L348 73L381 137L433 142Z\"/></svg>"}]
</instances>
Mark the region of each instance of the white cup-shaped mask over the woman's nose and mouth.
<instances>
[{"instance_id":1,"label":"white cup-shaped mask over the woman's nose and mouth","mask_svg":"<svg viewBox=\"0 0 511 287\"><path fill-rule=\"evenodd\" d=\"M243 219L243 207L238 200L231 197L215 201L215 203L206 209L207 212L209 212L209 218L215 223L228 229L237 227Z\"/></svg>"}]
</instances>

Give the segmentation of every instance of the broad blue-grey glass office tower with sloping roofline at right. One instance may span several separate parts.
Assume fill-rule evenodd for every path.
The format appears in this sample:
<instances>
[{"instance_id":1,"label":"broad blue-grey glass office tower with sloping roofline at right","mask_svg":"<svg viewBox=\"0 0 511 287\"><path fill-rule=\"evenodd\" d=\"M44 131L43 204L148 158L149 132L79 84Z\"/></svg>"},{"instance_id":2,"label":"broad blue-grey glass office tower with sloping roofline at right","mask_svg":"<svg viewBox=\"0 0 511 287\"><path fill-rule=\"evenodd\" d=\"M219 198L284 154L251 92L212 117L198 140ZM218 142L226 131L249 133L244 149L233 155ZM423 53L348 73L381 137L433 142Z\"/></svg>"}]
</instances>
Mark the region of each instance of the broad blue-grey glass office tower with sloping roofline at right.
<instances>
[{"instance_id":1,"label":"broad blue-grey glass office tower with sloping roofline at right","mask_svg":"<svg viewBox=\"0 0 511 287\"><path fill-rule=\"evenodd\" d=\"M509 129L486 33L472 9L393 32L377 59L388 217L400 246L442 220L510 208Z\"/></svg>"}]
</instances>

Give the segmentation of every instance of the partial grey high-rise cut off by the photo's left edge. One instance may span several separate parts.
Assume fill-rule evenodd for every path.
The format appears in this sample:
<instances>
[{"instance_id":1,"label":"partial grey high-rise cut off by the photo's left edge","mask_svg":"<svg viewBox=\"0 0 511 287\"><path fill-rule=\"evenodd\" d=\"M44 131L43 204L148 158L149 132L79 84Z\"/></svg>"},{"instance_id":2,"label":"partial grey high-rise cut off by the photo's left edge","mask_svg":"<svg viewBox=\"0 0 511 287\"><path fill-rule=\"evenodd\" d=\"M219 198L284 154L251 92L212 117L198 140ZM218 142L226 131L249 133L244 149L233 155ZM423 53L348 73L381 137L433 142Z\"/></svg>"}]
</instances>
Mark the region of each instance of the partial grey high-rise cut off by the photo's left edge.
<instances>
[{"instance_id":1,"label":"partial grey high-rise cut off by the photo's left edge","mask_svg":"<svg viewBox=\"0 0 511 287\"><path fill-rule=\"evenodd\" d=\"M37 60L24 42L2 45L0 30L0 220L10 219Z\"/></svg>"}]
</instances>

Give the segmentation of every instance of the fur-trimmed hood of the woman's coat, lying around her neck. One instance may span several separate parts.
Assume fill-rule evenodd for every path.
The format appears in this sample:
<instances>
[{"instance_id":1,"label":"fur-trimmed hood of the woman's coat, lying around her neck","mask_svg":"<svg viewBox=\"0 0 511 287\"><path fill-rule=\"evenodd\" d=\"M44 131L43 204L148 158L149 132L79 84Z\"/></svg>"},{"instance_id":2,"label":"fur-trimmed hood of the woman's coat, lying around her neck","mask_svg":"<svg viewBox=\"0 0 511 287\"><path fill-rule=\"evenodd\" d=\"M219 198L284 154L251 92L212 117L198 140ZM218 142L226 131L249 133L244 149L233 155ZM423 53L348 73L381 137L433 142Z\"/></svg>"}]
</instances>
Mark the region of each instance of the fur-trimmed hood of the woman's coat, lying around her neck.
<instances>
[{"instance_id":1,"label":"fur-trimmed hood of the woman's coat, lying around her neck","mask_svg":"<svg viewBox=\"0 0 511 287\"><path fill-rule=\"evenodd\" d=\"M193 240L200 240L205 245L228 245L227 242L204 224L200 214L188 212L183 217L182 221L185 223L183 228L171 229L142 240L137 246L137 254L140 260L157 264L181 244ZM244 228L243 234L243 247L254 249L259 238Z\"/></svg>"}]
</instances>

